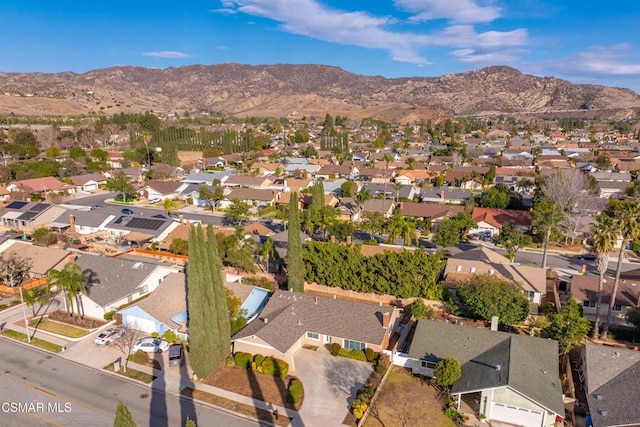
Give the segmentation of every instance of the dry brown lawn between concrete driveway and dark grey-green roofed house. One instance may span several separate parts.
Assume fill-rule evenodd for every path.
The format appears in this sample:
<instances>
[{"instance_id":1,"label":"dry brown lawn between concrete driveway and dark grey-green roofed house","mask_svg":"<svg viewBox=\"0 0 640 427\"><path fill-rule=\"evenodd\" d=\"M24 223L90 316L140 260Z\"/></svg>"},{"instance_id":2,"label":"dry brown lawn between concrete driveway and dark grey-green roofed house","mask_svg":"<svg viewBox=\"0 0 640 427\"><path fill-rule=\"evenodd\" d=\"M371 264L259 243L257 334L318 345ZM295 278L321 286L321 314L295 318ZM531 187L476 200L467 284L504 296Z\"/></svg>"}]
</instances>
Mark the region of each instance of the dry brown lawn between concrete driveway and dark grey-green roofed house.
<instances>
[{"instance_id":1,"label":"dry brown lawn between concrete driveway and dark grey-green roofed house","mask_svg":"<svg viewBox=\"0 0 640 427\"><path fill-rule=\"evenodd\" d=\"M438 392L411 371L394 366L374 403L365 427L425 425L455 427L444 415Z\"/></svg>"}]
</instances>

